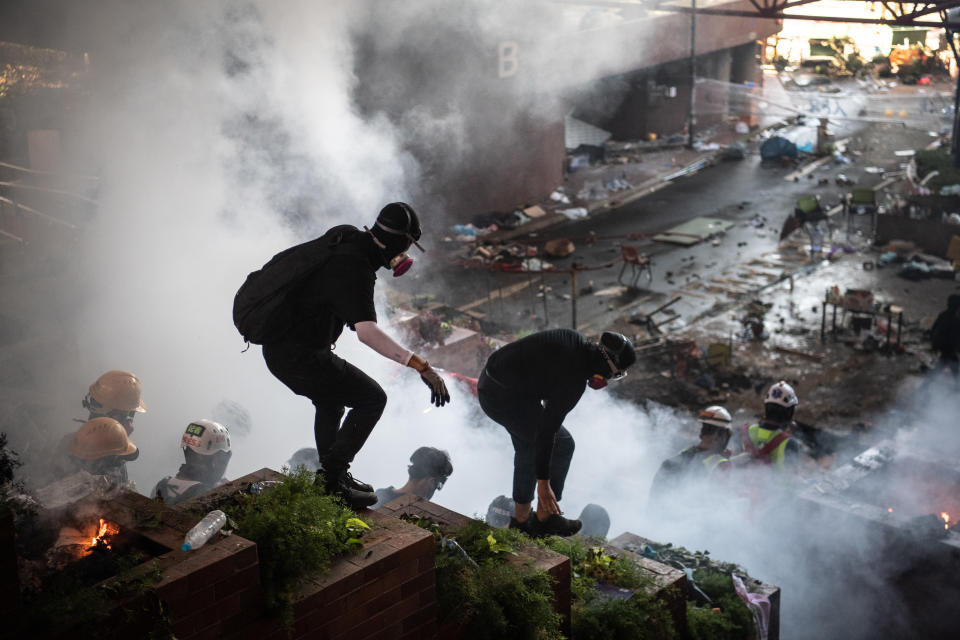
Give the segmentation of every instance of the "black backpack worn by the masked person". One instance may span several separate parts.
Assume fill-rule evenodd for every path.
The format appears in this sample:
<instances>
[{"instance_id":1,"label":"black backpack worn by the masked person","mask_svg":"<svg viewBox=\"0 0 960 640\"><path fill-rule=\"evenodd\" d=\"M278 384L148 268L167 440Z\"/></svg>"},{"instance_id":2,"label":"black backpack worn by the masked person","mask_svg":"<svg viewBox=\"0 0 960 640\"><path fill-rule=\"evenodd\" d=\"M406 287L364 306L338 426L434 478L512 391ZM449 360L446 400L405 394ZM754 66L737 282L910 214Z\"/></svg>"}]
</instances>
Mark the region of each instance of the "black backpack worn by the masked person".
<instances>
[{"instance_id":1,"label":"black backpack worn by the masked person","mask_svg":"<svg viewBox=\"0 0 960 640\"><path fill-rule=\"evenodd\" d=\"M360 231L344 224L315 240L290 247L247 276L233 298L233 324L253 344L275 342L296 322L287 296L334 254L365 255L353 240Z\"/></svg>"}]
</instances>

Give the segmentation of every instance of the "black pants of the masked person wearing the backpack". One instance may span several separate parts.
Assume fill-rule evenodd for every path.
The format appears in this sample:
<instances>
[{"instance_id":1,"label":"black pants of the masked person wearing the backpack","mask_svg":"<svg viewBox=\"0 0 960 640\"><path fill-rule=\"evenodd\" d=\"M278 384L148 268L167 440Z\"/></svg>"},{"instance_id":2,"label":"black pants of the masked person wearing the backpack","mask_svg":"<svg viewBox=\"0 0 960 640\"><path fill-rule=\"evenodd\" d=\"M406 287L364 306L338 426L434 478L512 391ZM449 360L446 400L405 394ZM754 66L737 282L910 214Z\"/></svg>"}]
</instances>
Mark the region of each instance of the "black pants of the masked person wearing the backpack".
<instances>
[{"instance_id":1,"label":"black pants of the masked person wearing the backpack","mask_svg":"<svg viewBox=\"0 0 960 640\"><path fill-rule=\"evenodd\" d=\"M387 394L380 385L329 349L264 345L263 359L270 373L316 407L313 435L324 468L349 465L387 404ZM341 426L346 407L350 412Z\"/></svg>"}]
</instances>

